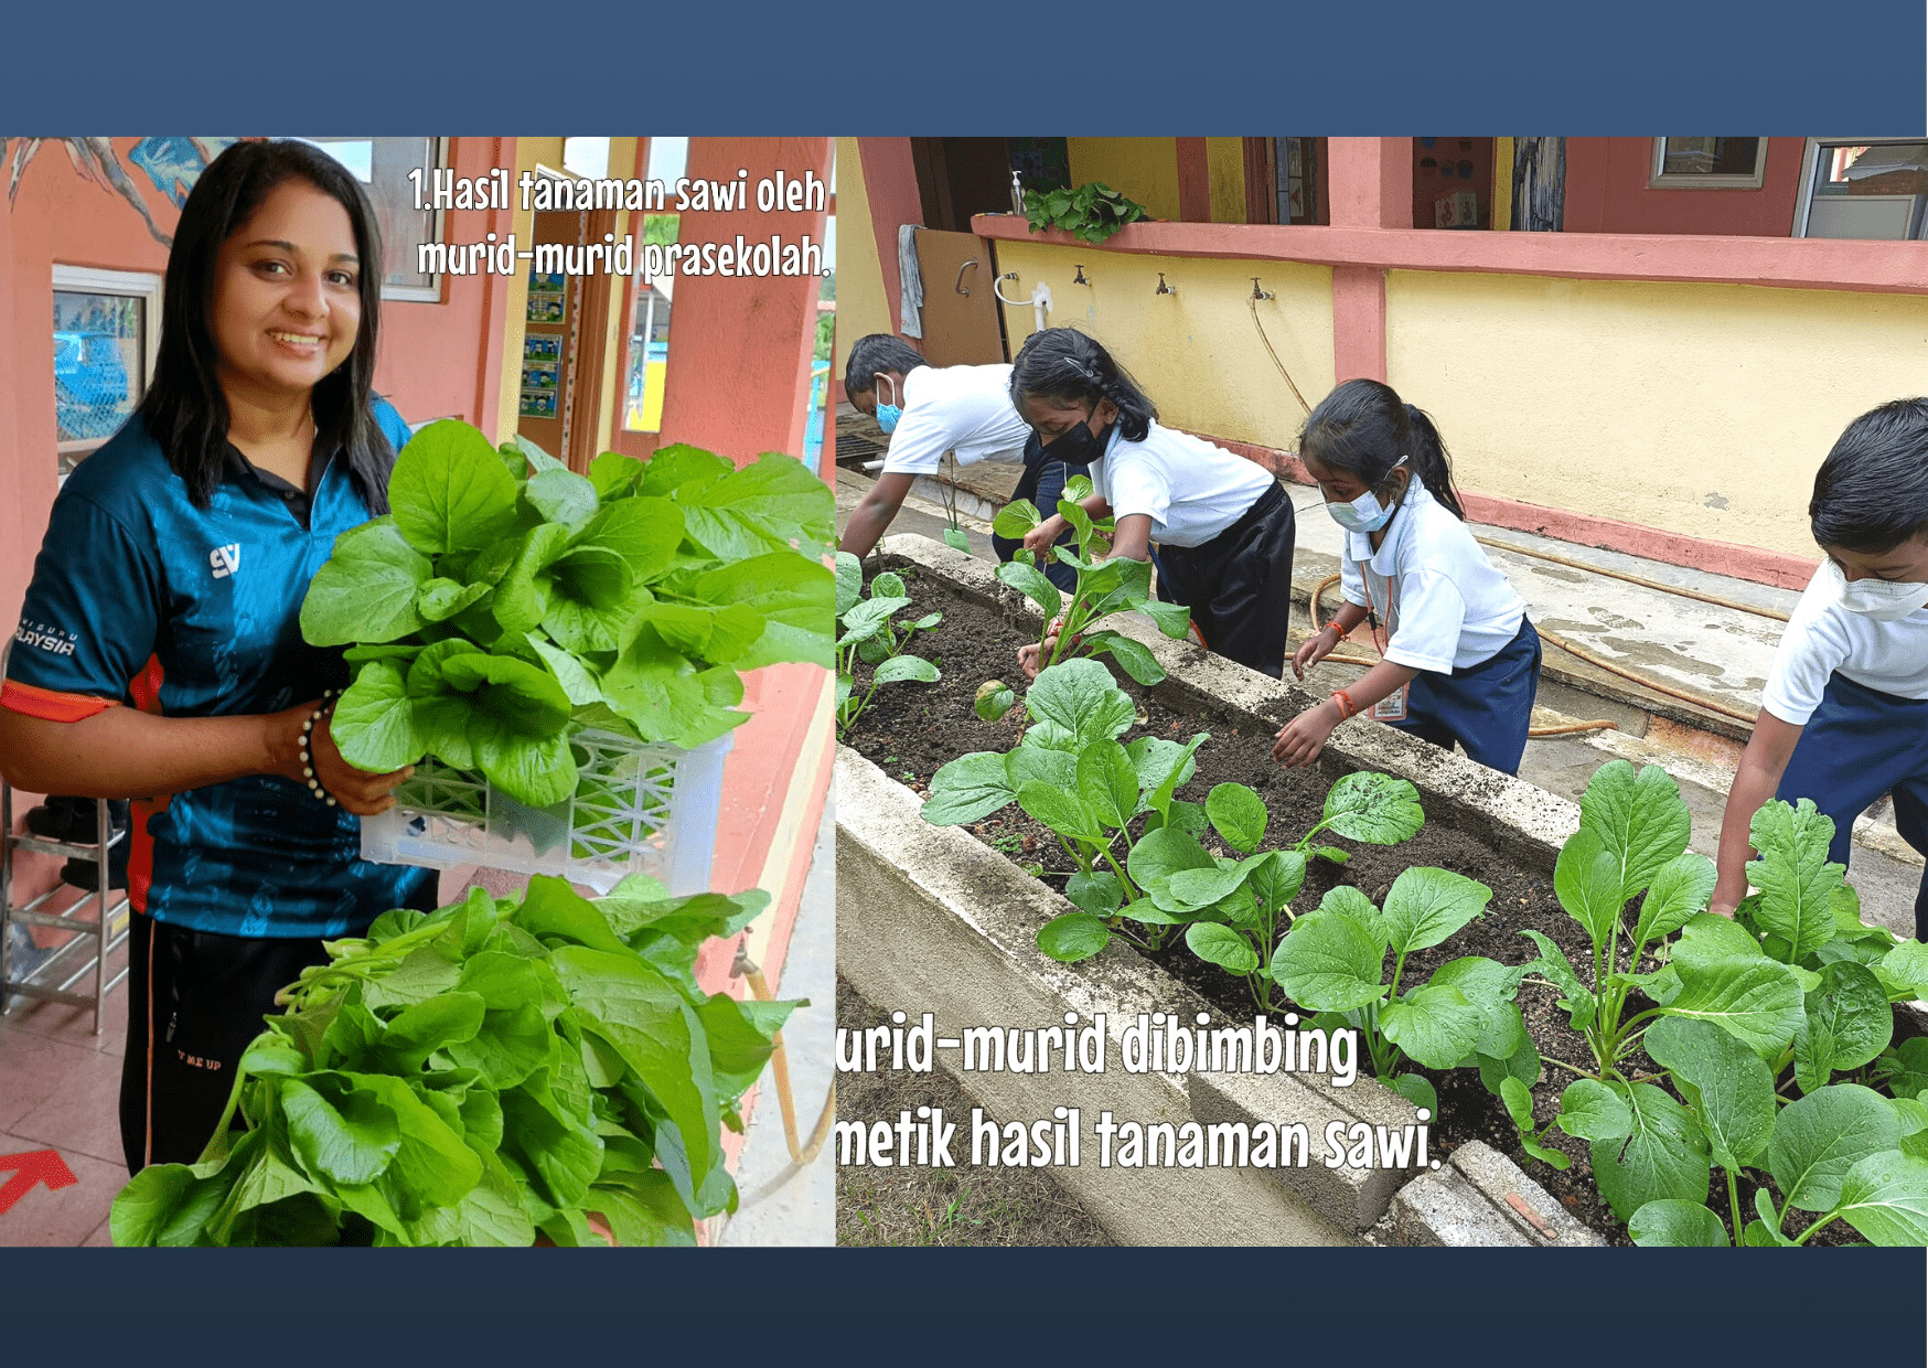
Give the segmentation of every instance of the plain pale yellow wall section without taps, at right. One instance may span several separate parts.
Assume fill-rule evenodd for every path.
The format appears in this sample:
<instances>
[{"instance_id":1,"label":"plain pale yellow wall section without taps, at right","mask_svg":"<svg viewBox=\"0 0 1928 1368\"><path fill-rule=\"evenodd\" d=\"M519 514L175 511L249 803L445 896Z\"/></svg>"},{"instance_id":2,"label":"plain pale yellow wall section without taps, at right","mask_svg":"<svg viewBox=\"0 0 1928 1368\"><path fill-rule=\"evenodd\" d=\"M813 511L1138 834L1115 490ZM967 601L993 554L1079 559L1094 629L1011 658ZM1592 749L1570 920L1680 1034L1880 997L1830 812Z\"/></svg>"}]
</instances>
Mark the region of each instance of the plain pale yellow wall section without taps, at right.
<instances>
[{"instance_id":1,"label":"plain pale yellow wall section without taps, at right","mask_svg":"<svg viewBox=\"0 0 1928 1368\"><path fill-rule=\"evenodd\" d=\"M1920 394L1928 297L1388 272L1392 386L1467 490L1814 554L1841 428Z\"/></svg>"}]
</instances>

